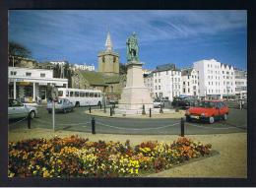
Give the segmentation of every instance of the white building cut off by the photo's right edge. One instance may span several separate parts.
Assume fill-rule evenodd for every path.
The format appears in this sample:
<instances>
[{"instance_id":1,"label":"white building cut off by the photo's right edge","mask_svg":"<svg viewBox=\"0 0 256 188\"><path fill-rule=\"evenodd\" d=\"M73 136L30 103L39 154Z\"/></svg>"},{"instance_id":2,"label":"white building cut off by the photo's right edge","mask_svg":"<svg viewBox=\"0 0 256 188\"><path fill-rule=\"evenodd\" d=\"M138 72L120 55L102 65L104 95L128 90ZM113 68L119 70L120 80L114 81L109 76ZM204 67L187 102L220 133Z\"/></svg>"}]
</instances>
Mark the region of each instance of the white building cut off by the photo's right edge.
<instances>
[{"instance_id":1,"label":"white building cut off by the photo's right edge","mask_svg":"<svg viewBox=\"0 0 256 188\"><path fill-rule=\"evenodd\" d=\"M234 68L235 95L247 98L247 72Z\"/></svg>"}]
</instances>

